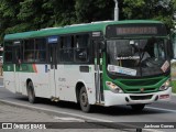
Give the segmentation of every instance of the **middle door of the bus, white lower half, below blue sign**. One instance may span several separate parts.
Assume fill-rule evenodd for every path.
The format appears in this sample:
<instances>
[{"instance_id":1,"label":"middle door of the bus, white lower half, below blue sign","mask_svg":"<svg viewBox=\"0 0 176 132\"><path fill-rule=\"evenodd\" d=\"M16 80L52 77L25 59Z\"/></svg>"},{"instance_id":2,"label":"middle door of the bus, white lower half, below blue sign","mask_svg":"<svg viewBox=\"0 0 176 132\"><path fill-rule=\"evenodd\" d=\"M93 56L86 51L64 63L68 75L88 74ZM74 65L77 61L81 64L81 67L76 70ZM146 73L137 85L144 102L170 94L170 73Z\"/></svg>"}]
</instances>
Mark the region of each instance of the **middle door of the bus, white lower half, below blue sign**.
<instances>
[{"instance_id":1,"label":"middle door of the bus, white lower half, below blue sign","mask_svg":"<svg viewBox=\"0 0 176 132\"><path fill-rule=\"evenodd\" d=\"M57 44L52 43L48 44L48 84L51 98L58 97L58 92L56 90L56 70L57 70Z\"/></svg>"}]
</instances>

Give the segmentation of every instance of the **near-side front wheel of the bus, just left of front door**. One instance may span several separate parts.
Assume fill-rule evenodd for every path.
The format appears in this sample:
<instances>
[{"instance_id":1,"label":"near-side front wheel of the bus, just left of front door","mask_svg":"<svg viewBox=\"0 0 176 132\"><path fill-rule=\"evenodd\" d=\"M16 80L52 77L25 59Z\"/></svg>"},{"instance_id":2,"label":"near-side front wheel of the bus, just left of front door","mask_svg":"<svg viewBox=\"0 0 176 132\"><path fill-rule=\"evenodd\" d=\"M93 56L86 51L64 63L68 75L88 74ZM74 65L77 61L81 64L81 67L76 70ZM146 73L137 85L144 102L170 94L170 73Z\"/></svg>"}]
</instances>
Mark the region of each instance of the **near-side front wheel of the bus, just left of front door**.
<instances>
[{"instance_id":1,"label":"near-side front wheel of the bus, just left of front door","mask_svg":"<svg viewBox=\"0 0 176 132\"><path fill-rule=\"evenodd\" d=\"M84 112L90 112L91 106L89 105L88 95L84 86L81 87L80 92L79 92L79 103Z\"/></svg>"}]
</instances>

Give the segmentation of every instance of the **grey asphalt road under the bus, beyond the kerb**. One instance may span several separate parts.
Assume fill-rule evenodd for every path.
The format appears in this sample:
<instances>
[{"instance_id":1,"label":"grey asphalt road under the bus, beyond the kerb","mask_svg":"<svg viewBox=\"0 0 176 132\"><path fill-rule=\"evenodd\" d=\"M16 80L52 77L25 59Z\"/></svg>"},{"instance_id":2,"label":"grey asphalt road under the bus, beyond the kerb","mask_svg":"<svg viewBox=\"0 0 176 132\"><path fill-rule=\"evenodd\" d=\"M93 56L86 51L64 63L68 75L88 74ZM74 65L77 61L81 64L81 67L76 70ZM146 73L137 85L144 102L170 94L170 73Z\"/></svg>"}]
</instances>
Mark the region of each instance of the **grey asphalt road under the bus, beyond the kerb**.
<instances>
[{"instance_id":1,"label":"grey asphalt road under the bus, beyond the kerb","mask_svg":"<svg viewBox=\"0 0 176 132\"><path fill-rule=\"evenodd\" d=\"M0 79L0 86L3 86ZM51 112L61 112L68 116L85 119L87 121L105 121L105 122L176 122L176 96L172 97L170 102L155 102L146 106L141 112L132 111L128 106L116 107L95 107L92 113L84 113L79 106L72 102L52 102L48 99L40 99L38 103L31 105L25 96L14 95L0 87L0 99L19 105L31 106ZM138 123L136 123L138 124ZM174 132L173 129L157 129L163 132ZM156 132L157 132L156 131Z\"/></svg>"}]
</instances>

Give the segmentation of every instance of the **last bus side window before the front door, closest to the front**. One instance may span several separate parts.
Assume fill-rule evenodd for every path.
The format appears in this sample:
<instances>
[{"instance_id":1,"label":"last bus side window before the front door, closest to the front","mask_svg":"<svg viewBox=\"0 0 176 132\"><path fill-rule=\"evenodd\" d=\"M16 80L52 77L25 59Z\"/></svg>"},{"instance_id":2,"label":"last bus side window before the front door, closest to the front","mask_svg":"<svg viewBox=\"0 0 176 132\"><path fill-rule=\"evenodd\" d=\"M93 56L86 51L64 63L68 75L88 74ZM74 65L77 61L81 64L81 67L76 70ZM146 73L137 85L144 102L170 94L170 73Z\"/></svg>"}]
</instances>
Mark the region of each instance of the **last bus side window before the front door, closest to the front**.
<instances>
[{"instance_id":1,"label":"last bus side window before the front door, closest to the front","mask_svg":"<svg viewBox=\"0 0 176 132\"><path fill-rule=\"evenodd\" d=\"M87 62L88 61L88 45L89 45L89 34L81 34L75 36L75 58L76 62Z\"/></svg>"}]
</instances>

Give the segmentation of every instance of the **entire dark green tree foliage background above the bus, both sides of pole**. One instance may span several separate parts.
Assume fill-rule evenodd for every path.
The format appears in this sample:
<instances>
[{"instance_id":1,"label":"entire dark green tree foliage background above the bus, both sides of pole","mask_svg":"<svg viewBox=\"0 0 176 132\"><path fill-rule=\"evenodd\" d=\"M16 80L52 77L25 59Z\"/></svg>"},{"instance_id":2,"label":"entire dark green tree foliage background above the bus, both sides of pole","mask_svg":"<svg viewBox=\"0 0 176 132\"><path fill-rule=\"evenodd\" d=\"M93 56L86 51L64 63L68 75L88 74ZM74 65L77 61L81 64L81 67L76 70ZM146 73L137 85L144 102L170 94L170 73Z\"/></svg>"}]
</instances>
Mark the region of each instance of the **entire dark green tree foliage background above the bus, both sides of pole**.
<instances>
[{"instance_id":1,"label":"entire dark green tree foliage background above the bus, both sides of pole","mask_svg":"<svg viewBox=\"0 0 176 132\"><path fill-rule=\"evenodd\" d=\"M173 26L176 0L118 0L120 20L153 19ZM7 33L113 20L113 0L0 0L0 42Z\"/></svg>"}]
</instances>

